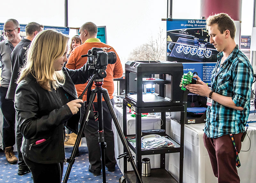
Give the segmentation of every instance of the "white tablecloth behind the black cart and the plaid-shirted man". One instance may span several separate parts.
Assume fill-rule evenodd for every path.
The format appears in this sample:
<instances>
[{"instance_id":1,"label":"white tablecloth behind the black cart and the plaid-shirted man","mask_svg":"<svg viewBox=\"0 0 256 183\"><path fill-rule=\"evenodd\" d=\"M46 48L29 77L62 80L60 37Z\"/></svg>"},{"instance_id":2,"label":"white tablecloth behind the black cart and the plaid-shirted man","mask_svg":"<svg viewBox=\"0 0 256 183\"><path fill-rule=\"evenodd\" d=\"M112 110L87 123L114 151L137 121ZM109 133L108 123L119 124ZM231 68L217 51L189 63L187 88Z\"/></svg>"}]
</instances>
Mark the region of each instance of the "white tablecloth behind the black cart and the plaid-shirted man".
<instances>
[{"instance_id":1,"label":"white tablecloth behind the black cart and the plaid-shirted man","mask_svg":"<svg viewBox=\"0 0 256 183\"><path fill-rule=\"evenodd\" d=\"M122 109L114 108L118 122L122 128L123 115ZM128 115L127 115L128 116ZM160 129L160 119L156 118L142 118L141 128L146 129ZM113 123L113 131L115 134L115 154L116 157L123 153L123 145L117 134L115 125ZM186 124L185 125L185 142L184 142L184 164L183 164L183 182L184 183L217 183L218 179L214 177L209 155L204 147L203 134L204 123L201 124ZM166 133L173 139L180 142L180 124L175 120L166 118ZM127 117L127 134L135 134L135 119ZM238 168L238 174L241 183L254 183L256 180L256 123L250 123L247 130L248 136L242 142L242 149L239 153L241 167ZM248 150L247 152L243 152ZM134 154L133 154L134 155ZM160 155L147 155L150 159L151 168L160 167ZM165 155L165 169L172 174L172 176L179 180L179 153L171 153ZM118 160L117 164L123 172L123 160ZM128 163L127 170L132 170ZM123 172L124 173L124 172Z\"/></svg>"}]
</instances>

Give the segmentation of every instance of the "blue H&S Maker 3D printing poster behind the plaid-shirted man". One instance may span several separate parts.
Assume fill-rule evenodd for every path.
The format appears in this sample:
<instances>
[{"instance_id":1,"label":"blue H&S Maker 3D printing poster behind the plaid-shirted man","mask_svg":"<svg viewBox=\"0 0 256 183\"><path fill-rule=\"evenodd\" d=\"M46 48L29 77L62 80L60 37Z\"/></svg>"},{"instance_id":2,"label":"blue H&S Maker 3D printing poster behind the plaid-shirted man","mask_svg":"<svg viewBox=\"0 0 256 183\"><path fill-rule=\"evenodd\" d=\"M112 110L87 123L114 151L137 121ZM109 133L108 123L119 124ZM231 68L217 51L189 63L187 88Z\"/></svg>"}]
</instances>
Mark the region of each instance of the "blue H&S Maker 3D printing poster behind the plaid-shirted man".
<instances>
[{"instance_id":1,"label":"blue H&S Maker 3D printing poster behind the plaid-shirted man","mask_svg":"<svg viewBox=\"0 0 256 183\"><path fill-rule=\"evenodd\" d=\"M209 43L206 20L172 19L166 28L167 60L183 63L184 73L191 71L210 84L219 52Z\"/></svg>"}]
</instances>

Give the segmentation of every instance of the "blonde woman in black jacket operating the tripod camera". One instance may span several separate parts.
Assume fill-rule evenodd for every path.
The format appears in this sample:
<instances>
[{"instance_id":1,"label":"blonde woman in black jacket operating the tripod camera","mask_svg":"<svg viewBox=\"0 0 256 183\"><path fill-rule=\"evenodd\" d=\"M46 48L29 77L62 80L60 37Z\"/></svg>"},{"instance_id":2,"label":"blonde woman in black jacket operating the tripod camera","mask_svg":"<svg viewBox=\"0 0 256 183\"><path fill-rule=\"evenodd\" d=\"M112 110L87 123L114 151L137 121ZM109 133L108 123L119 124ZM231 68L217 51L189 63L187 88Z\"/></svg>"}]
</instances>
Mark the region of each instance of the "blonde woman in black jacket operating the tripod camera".
<instances>
[{"instance_id":1,"label":"blonde woman in black jacket operating the tripod camera","mask_svg":"<svg viewBox=\"0 0 256 183\"><path fill-rule=\"evenodd\" d=\"M79 108L74 84L88 80L86 64L77 70L62 67L68 37L54 30L40 32L28 50L15 93L15 109L23 135L21 152L33 181L61 182L64 125L77 132Z\"/></svg>"}]
</instances>

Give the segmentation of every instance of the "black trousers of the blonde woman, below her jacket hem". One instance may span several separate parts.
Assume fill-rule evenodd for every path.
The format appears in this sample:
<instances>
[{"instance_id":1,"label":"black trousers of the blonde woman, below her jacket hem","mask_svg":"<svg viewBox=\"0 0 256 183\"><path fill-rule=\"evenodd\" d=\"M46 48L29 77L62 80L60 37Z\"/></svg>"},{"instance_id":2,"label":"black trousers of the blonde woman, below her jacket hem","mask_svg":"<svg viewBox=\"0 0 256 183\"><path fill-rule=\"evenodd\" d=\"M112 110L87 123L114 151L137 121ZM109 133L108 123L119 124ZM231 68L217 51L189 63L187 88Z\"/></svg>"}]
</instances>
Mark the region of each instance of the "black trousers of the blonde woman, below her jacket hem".
<instances>
[{"instance_id":1,"label":"black trousers of the blonde woman, below her jacket hem","mask_svg":"<svg viewBox=\"0 0 256 183\"><path fill-rule=\"evenodd\" d=\"M64 163L35 163L25 156L23 156L23 159L33 175L34 183L61 182Z\"/></svg>"}]
</instances>

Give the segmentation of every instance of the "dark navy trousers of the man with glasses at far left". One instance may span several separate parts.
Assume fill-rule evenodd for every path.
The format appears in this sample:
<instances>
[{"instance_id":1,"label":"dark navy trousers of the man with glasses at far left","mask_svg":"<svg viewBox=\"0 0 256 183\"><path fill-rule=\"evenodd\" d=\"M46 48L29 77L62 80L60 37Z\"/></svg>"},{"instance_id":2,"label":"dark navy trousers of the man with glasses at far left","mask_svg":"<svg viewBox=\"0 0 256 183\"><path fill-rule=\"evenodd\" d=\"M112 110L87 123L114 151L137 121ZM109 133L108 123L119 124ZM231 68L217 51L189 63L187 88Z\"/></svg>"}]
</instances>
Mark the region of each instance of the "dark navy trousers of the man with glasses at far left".
<instances>
[{"instance_id":1,"label":"dark navy trousers of the man with glasses at far left","mask_svg":"<svg viewBox=\"0 0 256 183\"><path fill-rule=\"evenodd\" d=\"M5 99L7 87L0 87L0 107L4 116L3 120L3 146L13 147L15 144L15 109L12 100Z\"/></svg>"}]
</instances>

